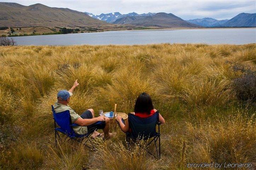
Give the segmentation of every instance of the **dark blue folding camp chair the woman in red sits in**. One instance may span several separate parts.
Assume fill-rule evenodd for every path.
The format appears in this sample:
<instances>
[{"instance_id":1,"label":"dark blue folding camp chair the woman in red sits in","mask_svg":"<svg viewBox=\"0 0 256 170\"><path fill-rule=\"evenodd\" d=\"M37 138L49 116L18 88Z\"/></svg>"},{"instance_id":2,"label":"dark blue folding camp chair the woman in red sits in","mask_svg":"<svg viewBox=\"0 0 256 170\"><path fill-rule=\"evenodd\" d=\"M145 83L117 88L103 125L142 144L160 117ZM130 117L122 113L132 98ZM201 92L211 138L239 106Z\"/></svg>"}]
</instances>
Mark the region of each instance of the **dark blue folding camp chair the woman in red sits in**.
<instances>
[{"instance_id":1,"label":"dark blue folding camp chair the woman in red sits in","mask_svg":"<svg viewBox=\"0 0 256 170\"><path fill-rule=\"evenodd\" d=\"M131 113L128 114L129 128L131 133L126 133L126 142L130 150L130 140L136 142L136 140L149 140L147 147L154 141L155 150L157 152L157 157L161 157L161 147L160 147L160 122L159 122L159 112L155 112L154 115L148 118L140 118ZM156 126L158 125L158 132L156 131ZM150 140L153 138L152 140ZM158 147L157 147L158 141ZM155 157L148 150L147 152Z\"/></svg>"}]
</instances>

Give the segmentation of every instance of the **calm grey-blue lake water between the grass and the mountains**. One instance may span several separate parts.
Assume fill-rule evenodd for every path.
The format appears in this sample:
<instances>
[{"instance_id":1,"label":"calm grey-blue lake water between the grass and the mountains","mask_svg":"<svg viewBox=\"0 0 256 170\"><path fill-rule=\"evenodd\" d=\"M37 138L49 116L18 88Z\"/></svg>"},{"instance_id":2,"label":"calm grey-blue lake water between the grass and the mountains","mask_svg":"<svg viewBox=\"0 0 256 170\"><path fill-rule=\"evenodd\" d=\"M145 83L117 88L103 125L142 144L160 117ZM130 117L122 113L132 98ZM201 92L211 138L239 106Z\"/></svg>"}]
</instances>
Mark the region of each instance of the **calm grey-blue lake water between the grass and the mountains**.
<instances>
[{"instance_id":1,"label":"calm grey-blue lake water between the grass and the mountains","mask_svg":"<svg viewBox=\"0 0 256 170\"><path fill-rule=\"evenodd\" d=\"M135 45L153 43L256 43L256 28L106 31L13 37L17 45Z\"/></svg>"}]
</instances>

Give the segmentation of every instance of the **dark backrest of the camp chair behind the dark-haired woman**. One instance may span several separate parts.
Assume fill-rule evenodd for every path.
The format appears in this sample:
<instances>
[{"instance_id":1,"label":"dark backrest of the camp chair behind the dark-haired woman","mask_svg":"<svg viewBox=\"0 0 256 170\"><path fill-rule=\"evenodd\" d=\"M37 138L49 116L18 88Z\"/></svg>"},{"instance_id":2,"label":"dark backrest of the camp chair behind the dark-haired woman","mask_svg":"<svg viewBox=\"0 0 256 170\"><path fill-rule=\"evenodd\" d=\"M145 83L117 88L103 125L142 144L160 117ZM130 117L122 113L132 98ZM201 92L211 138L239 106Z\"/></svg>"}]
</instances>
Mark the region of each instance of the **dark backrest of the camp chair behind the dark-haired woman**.
<instances>
[{"instance_id":1,"label":"dark backrest of the camp chair behind the dark-haired woman","mask_svg":"<svg viewBox=\"0 0 256 170\"><path fill-rule=\"evenodd\" d=\"M134 139L149 139L157 134L155 127L159 121L159 112L148 118L140 118L131 113L128 114L129 128Z\"/></svg>"}]
</instances>

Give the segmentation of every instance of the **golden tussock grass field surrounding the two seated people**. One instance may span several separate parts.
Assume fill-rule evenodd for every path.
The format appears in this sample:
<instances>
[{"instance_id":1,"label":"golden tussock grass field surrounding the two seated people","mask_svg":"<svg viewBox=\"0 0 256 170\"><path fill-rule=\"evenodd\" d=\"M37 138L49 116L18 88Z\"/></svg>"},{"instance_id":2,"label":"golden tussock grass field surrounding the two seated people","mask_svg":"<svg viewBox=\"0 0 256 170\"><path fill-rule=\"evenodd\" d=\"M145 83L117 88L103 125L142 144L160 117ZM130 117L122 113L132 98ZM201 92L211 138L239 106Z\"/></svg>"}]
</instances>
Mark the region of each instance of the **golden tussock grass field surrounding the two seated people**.
<instances>
[{"instance_id":1,"label":"golden tussock grass field surrounding the two seated people","mask_svg":"<svg viewBox=\"0 0 256 170\"><path fill-rule=\"evenodd\" d=\"M186 169L187 163L254 162L256 45L0 47L0 169ZM131 112L148 92L166 120L162 159L128 152L125 134L55 148L51 104L80 83L70 100ZM248 86L249 84L249 86ZM251 101L250 101L251 99ZM112 124L113 125L113 124ZM113 159L111 159L113 158ZM207 169L207 168L204 168Z\"/></svg>"}]
</instances>

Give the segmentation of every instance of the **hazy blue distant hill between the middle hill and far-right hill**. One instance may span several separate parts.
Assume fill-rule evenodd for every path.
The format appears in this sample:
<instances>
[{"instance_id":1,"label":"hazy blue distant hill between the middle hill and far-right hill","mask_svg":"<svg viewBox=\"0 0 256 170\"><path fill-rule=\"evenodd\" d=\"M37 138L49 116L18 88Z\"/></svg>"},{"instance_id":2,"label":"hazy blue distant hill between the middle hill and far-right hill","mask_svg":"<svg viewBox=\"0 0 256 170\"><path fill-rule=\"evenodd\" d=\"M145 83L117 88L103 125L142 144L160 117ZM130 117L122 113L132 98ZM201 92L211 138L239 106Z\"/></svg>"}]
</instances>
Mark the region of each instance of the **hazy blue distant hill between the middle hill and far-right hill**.
<instances>
[{"instance_id":1,"label":"hazy blue distant hill between the middle hill and far-right hill","mask_svg":"<svg viewBox=\"0 0 256 170\"><path fill-rule=\"evenodd\" d=\"M216 25L223 24L228 21L228 19L223 19L223 20L217 20L214 18L202 18L202 19L189 19L186 20L187 22L197 24L203 27L215 27Z\"/></svg>"}]
</instances>

